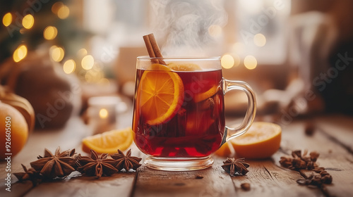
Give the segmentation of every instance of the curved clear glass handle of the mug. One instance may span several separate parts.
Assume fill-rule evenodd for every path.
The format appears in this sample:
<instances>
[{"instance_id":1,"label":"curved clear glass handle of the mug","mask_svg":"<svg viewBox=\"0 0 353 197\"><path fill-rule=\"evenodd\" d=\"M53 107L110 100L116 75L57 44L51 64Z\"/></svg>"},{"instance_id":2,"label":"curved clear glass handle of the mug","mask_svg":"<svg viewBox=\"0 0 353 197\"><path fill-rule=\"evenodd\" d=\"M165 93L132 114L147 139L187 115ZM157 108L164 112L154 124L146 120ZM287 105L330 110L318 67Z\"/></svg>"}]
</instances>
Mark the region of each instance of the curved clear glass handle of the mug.
<instances>
[{"instance_id":1,"label":"curved clear glass handle of the mug","mask_svg":"<svg viewBox=\"0 0 353 197\"><path fill-rule=\"evenodd\" d=\"M226 80L225 78L222 79L222 86L223 86L223 95L225 95L228 91L231 90L241 90L244 91L246 96L248 96L248 108L246 110L246 115L244 117L243 122L239 127L237 128L232 128L232 127L225 127L225 134L222 140L222 144L225 144L226 141L229 141L230 139L234 139L237 136L241 136L244 134L251 126L253 123L253 120L256 115L256 96L246 82L241 82L241 81L232 81L232 80Z\"/></svg>"}]
</instances>

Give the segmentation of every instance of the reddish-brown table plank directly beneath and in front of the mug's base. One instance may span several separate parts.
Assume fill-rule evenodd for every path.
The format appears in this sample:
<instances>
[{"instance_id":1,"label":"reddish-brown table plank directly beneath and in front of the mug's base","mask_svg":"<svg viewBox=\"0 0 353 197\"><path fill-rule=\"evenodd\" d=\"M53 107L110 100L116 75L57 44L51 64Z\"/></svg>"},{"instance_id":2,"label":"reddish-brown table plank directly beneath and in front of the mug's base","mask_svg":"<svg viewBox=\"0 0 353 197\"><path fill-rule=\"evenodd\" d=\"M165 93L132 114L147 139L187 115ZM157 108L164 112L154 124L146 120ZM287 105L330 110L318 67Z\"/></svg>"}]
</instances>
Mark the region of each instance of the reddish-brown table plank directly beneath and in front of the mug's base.
<instances>
[{"instance_id":1,"label":"reddish-brown table plank directly beneath and in front of the mug's base","mask_svg":"<svg viewBox=\"0 0 353 197\"><path fill-rule=\"evenodd\" d=\"M215 160L213 167L189 172L166 172L141 167L133 196L234 196L229 175ZM196 175L203 179L196 179Z\"/></svg>"}]
</instances>

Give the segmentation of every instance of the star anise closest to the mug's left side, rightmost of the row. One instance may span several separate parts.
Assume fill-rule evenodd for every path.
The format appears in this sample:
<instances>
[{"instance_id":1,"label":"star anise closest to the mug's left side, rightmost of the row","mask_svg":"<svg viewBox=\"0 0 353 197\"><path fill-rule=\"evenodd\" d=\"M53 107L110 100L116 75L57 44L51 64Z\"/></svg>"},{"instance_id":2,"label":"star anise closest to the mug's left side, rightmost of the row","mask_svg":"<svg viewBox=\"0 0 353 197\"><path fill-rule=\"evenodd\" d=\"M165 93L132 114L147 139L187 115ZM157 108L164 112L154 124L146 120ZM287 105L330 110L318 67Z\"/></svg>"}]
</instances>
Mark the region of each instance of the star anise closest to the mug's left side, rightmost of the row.
<instances>
[{"instance_id":1,"label":"star anise closest to the mug's left side, rightmost of the row","mask_svg":"<svg viewBox=\"0 0 353 197\"><path fill-rule=\"evenodd\" d=\"M126 172L130 169L137 170L138 167L140 167L140 160L142 158L138 157L131 157L131 149L128 150L126 155L120 150L118 150L118 153L115 153L112 155L112 158L116 160L116 169L122 170L123 168L126 170Z\"/></svg>"}]
</instances>

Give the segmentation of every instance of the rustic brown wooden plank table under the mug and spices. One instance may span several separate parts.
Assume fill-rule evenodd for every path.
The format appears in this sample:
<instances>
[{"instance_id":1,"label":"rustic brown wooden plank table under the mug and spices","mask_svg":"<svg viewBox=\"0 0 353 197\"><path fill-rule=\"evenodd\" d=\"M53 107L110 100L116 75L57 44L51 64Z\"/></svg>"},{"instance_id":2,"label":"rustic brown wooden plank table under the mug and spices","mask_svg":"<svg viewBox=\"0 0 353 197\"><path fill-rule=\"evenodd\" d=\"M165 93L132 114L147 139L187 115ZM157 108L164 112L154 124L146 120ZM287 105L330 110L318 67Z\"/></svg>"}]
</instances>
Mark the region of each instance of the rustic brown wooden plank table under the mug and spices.
<instances>
[{"instance_id":1,"label":"rustic brown wooden plank table under the mug and spices","mask_svg":"<svg viewBox=\"0 0 353 197\"><path fill-rule=\"evenodd\" d=\"M131 124L131 114L121 115L119 127ZM304 133L306 122L316 123L313 136ZM73 117L64 129L35 131L28 144L11 160L11 172L22 172L20 163L29 167L37 155L43 155L44 147L54 151L80 149L80 140L90 135L90 129L78 117ZM281 148L267 160L246 160L250 163L245 176L229 177L222 170L222 160L213 156L213 167L192 172L164 172L140 167L138 172L121 172L112 177L75 177L62 181L46 182L32 187L30 182L16 183L11 176L11 192L5 191L5 167L1 162L0 196L353 196L353 117L345 115L321 115L311 119L294 120L282 125ZM132 145L133 155L143 157ZM333 184L327 185L328 194L321 189L299 186L297 179L303 179L311 171L288 170L279 164L280 157L292 150L318 151L318 163L333 176ZM196 175L203 179L196 179ZM244 191L242 183L251 184L250 191Z\"/></svg>"}]
</instances>

